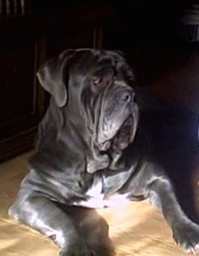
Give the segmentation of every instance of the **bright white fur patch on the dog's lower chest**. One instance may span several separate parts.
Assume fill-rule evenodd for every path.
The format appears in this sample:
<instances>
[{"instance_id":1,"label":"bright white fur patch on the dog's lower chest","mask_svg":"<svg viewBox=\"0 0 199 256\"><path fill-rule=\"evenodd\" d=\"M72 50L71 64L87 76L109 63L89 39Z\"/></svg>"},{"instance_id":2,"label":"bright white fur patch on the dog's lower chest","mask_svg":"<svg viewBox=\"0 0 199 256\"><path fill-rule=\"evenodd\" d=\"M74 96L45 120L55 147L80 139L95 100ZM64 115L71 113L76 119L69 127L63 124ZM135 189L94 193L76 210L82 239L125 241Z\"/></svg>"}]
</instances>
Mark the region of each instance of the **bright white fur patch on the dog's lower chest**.
<instances>
[{"instance_id":1,"label":"bright white fur patch on the dog's lower chest","mask_svg":"<svg viewBox=\"0 0 199 256\"><path fill-rule=\"evenodd\" d=\"M123 207L129 203L129 199L127 199L127 196L129 195L128 193L115 193L111 196L105 196L105 194L102 193L102 188L102 178L96 177L92 187L86 192L86 196L89 196L89 199L86 201L75 202L74 205L89 208L104 208Z\"/></svg>"}]
</instances>

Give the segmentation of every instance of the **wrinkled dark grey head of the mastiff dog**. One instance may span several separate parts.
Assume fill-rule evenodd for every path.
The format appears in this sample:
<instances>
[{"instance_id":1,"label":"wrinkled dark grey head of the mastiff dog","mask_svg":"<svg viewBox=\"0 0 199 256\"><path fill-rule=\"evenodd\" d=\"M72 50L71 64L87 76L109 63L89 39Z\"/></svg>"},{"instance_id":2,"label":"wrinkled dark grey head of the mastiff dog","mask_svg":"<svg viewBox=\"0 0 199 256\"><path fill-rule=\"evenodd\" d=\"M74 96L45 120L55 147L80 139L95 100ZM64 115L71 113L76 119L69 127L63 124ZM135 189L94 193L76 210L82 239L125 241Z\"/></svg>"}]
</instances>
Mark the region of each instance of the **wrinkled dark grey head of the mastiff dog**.
<instances>
[{"instance_id":1,"label":"wrinkled dark grey head of the mastiff dog","mask_svg":"<svg viewBox=\"0 0 199 256\"><path fill-rule=\"evenodd\" d=\"M121 52L68 49L45 63L38 79L54 103L65 108L65 119L79 121L82 134L86 129L92 148L123 150L134 140L134 73Z\"/></svg>"}]
</instances>

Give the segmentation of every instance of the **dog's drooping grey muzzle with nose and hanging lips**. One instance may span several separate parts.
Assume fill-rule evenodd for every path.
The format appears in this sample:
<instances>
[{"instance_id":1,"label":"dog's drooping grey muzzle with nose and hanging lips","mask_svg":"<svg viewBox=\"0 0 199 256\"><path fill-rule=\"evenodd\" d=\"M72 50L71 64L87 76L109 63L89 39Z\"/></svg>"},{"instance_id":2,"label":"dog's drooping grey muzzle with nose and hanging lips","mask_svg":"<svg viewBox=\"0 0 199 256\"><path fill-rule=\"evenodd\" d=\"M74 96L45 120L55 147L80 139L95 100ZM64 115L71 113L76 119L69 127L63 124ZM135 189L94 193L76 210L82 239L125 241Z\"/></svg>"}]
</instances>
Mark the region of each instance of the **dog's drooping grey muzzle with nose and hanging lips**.
<instances>
[{"instance_id":1,"label":"dog's drooping grey muzzle with nose and hanging lips","mask_svg":"<svg viewBox=\"0 0 199 256\"><path fill-rule=\"evenodd\" d=\"M107 151L112 145L113 138L118 134L124 134L127 129L128 132L125 134L131 137L132 131L137 128L137 116L134 90L122 84L115 92L109 94L102 106L97 137L100 151Z\"/></svg>"}]
</instances>

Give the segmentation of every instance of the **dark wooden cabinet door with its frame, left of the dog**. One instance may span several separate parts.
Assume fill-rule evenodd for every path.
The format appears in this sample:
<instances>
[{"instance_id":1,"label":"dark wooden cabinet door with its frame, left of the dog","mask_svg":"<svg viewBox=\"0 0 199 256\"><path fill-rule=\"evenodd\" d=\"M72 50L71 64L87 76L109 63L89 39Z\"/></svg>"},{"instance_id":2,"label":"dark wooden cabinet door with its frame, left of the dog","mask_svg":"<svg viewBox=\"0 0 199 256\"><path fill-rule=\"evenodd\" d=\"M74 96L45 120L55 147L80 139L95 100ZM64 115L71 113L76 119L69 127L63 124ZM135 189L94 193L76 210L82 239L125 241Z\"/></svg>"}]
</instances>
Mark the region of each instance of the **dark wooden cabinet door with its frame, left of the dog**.
<instances>
[{"instance_id":1,"label":"dark wooden cabinet door with its frame, left of the dog","mask_svg":"<svg viewBox=\"0 0 199 256\"><path fill-rule=\"evenodd\" d=\"M39 119L35 53L32 36L0 37L0 161L33 145Z\"/></svg>"}]
</instances>

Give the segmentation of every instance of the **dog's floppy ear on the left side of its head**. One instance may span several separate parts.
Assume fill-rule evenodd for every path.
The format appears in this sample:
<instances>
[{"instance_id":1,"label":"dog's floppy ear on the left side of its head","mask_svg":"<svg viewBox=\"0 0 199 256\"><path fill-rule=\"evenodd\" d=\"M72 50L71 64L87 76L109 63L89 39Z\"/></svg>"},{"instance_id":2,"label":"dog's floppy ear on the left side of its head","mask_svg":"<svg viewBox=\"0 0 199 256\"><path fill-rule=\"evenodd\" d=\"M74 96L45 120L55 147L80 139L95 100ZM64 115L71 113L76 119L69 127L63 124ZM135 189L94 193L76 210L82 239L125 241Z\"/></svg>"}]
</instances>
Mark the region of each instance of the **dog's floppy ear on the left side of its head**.
<instances>
[{"instance_id":1,"label":"dog's floppy ear on the left side of its head","mask_svg":"<svg viewBox=\"0 0 199 256\"><path fill-rule=\"evenodd\" d=\"M54 97L59 107L64 106L67 101L68 92L65 85L65 72L74 54L75 50L68 49L58 57L47 61L37 72L41 86Z\"/></svg>"}]
</instances>

